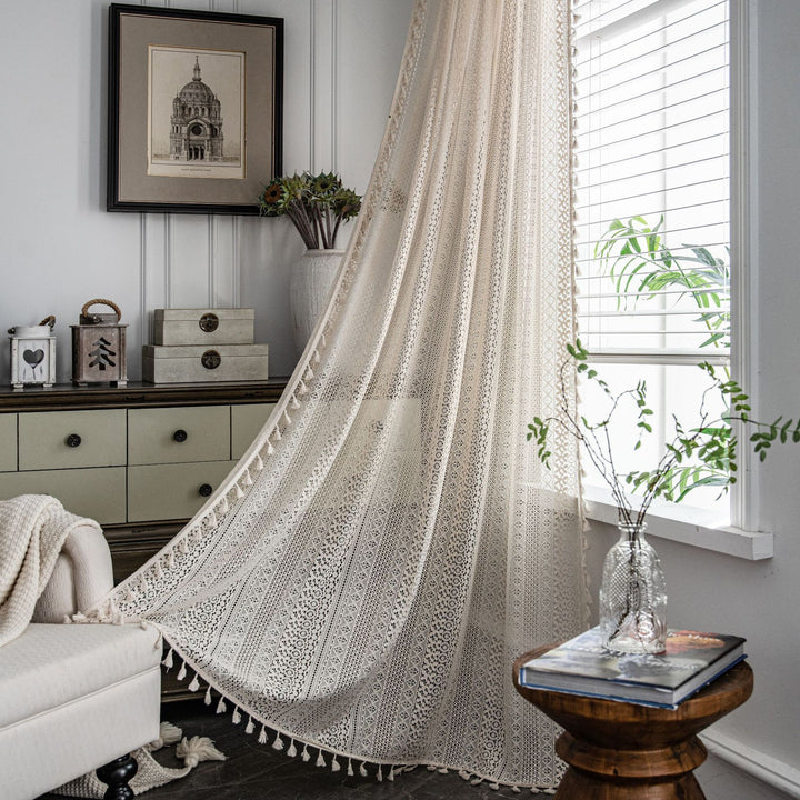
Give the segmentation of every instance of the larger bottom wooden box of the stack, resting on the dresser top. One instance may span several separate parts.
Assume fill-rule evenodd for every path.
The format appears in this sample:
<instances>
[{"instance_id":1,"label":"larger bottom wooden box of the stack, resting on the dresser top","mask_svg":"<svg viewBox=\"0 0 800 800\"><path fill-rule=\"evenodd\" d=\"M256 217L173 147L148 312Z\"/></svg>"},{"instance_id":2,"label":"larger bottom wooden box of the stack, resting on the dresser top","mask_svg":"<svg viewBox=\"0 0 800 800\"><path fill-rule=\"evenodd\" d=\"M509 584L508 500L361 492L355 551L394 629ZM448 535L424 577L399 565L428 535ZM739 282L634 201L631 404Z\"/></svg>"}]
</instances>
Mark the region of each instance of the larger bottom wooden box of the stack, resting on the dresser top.
<instances>
[{"instance_id":1,"label":"larger bottom wooden box of the stack, resting on the dresser top","mask_svg":"<svg viewBox=\"0 0 800 800\"><path fill-rule=\"evenodd\" d=\"M150 383L267 380L268 344L144 344L142 379Z\"/></svg>"}]
</instances>

